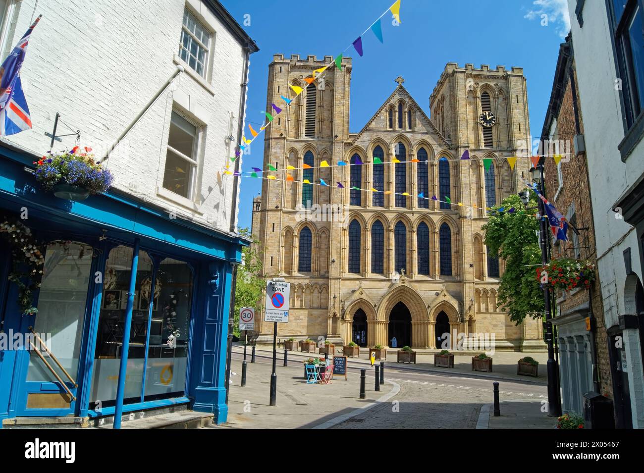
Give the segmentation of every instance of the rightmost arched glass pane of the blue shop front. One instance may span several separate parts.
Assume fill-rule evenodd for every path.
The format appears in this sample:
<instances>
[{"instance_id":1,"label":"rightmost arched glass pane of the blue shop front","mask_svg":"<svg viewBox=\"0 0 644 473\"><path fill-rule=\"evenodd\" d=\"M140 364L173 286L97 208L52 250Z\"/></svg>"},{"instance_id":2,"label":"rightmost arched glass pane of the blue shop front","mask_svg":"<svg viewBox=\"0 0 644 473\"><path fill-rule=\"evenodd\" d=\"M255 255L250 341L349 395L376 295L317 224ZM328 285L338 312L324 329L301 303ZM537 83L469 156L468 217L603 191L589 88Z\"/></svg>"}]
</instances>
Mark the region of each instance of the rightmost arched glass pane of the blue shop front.
<instances>
[{"instance_id":1,"label":"rightmost arched glass pane of the blue shop front","mask_svg":"<svg viewBox=\"0 0 644 473\"><path fill-rule=\"evenodd\" d=\"M150 301L154 301L147 346L146 401L184 394L192 294L190 266L171 258L159 265L154 290L149 277L140 290L140 308L146 316Z\"/></svg>"}]
</instances>

